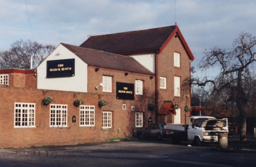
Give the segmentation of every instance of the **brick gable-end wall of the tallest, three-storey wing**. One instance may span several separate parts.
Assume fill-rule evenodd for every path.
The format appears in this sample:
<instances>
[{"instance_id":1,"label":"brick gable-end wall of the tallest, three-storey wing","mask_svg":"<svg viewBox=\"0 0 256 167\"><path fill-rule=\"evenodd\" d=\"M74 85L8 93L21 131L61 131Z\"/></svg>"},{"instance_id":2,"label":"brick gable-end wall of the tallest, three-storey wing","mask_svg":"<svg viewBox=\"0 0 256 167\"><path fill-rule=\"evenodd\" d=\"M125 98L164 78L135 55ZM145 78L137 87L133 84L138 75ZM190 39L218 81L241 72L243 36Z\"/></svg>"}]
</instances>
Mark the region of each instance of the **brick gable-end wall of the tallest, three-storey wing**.
<instances>
[{"instance_id":1,"label":"brick gable-end wall of the tallest, three-storey wing","mask_svg":"<svg viewBox=\"0 0 256 167\"><path fill-rule=\"evenodd\" d=\"M174 52L180 53L180 67L174 67ZM172 38L167 46L164 48L163 52L159 53L158 56L158 80L159 77L167 77L167 89L158 88L158 111L163 104L163 101L172 100L174 103L177 102L179 107L181 107L181 123L184 124L184 107L190 105L190 97L174 97L174 76L181 77L182 81L190 76L190 60L182 46L179 38ZM159 81L158 81L159 82ZM182 92L181 92L182 96ZM188 114L188 113L187 113ZM168 114L168 116L160 115L159 122L173 123L174 115Z\"/></svg>"}]
</instances>

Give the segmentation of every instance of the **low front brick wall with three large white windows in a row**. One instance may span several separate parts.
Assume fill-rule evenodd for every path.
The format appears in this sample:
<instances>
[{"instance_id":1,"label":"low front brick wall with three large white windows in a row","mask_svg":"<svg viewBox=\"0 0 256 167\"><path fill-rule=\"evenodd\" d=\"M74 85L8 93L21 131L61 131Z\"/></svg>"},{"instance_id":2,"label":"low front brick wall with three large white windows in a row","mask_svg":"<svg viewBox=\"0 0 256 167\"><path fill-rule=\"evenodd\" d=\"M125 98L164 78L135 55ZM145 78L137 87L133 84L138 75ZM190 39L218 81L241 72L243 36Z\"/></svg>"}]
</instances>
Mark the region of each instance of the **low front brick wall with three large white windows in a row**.
<instances>
[{"instance_id":1,"label":"low front brick wall with three large white windows in a row","mask_svg":"<svg viewBox=\"0 0 256 167\"><path fill-rule=\"evenodd\" d=\"M68 105L68 127L50 127L50 110L48 106L42 106L45 95L53 96L53 104ZM100 141L101 117L98 95L68 91L35 90L18 87L0 87L0 148L16 148L38 145L67 145ZM73 105L73 101L79 96L84 100L84 105L95 105L95 127L79 126L79 107ZM36 127L14 127L15 102L36 103L35 125ZM77 117L77 122L72 123L72 116ZM106 139L105 139L106 140Z\"/></svg>"}]
</instances>

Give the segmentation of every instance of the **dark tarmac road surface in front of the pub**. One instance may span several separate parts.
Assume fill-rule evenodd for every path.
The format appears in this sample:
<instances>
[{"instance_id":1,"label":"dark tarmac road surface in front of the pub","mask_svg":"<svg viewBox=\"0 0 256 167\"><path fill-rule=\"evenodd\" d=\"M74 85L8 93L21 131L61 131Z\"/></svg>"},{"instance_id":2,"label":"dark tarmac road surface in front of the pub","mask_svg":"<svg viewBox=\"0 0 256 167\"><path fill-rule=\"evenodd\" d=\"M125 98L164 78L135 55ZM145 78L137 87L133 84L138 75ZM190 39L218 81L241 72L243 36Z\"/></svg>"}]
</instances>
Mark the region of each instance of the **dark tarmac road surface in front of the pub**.
<instances>
[{"instance_id":1,"label":"dark tarmac road surface in front of the pub","mask_svg":"<svg viewBox=\"0 0 256 167\"><path fill-rule=\"evenodd\" d=\"M213 151L169 140L113 141L55 148L2 149L0 166L255 166L256 154Z\"/></svg>"}]
</instances>

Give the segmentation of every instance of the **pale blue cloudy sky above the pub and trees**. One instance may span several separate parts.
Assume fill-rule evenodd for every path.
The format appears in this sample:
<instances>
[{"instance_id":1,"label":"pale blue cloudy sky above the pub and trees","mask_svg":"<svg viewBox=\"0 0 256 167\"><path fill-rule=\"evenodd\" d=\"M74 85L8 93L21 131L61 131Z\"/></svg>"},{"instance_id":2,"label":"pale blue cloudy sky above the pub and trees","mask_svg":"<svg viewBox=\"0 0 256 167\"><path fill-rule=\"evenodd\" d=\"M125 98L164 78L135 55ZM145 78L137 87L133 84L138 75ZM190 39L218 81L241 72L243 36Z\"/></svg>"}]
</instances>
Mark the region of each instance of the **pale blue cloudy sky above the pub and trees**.
<instances>
[{"instance_id":1,"label":"pale blue cloudy sky above the pub and trees","mask_svg":"<svg viewBox=\"0 0 256 167\"><path fill-rule=\"evenodd\" d=\"M231 49L241 32L256 36L255 9L255 0L0 0L0 50L19 40L79 46L90 35L177 23L197 76L203 52Z\"/></svg>"}]
</instances>

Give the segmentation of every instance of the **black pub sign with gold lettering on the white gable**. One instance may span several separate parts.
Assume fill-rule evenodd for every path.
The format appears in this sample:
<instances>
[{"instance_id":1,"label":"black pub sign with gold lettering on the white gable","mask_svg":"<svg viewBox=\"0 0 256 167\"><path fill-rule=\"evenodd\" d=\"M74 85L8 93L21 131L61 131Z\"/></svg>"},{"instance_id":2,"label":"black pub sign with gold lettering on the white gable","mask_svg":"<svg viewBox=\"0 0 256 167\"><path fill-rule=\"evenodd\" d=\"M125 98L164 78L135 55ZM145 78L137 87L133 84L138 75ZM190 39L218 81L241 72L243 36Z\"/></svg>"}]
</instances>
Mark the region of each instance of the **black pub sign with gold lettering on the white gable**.
<instances>
[{"instance_id":1,"label":"black pub sign with gold lettering on the white gable","mask_svg":"<svg viewBox=\"0 0 256 167\"><path fill-rule=\"evenodd\" d=\"M47 61L47 78L70 77L75 75L75 59Z\"/></svg>"}]
</instances>

